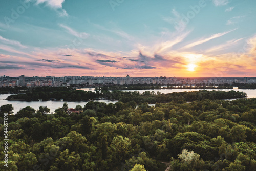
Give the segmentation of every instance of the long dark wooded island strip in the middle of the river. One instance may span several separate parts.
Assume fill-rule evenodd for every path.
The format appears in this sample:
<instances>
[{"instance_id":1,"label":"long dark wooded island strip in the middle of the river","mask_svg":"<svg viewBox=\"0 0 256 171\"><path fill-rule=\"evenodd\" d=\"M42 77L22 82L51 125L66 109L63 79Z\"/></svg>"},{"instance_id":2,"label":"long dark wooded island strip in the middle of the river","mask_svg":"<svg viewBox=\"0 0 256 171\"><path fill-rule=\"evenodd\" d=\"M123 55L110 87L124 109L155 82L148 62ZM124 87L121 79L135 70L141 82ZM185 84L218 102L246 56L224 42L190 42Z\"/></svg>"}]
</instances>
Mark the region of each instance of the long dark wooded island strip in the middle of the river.
<instances>
[{"instance_id":1,"label":"long dark wooded island strip in the middle of the river","mask_svg":"<svg viewBox=\"0 0 256 171\"><path fill-rule=\"evenodd\" d=\"M236 91L207 91L200 90L195 92L173 92L167 94L161 94L159 91L145 91L140 94L138 91L134 92L124 92L119 90L114 91L83 91L75 90L66 87L38 87L32 89L31 92L26 92L23 94L15 94L8 96L8 100L26 100L26 101L38 101L41 100L61 100L63 101L88 101L95 99L108 99L108 100L118 100L120 102L130 102L134 101L153 103L163 103L170 102L173 100L203 100L203 99L234 99L246 97L246 93L236 92Z\"/></svg>"}]
</instances>

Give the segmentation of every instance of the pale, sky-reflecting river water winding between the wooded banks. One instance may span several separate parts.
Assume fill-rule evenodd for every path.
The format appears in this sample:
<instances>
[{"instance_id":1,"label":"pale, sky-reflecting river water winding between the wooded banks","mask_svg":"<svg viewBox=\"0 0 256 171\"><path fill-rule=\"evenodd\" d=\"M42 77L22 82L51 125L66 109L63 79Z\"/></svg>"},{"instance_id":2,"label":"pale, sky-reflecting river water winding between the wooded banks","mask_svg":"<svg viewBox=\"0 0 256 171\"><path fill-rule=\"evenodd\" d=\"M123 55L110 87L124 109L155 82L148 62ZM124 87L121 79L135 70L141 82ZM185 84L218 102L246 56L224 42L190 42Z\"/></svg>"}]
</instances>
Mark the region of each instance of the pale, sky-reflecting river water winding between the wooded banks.
<instances>
[{"instance_id":1,"label":"pale, sky-reflecting river water winding between the wooded banks","mask_svg":"<svg viewBox=\"0 0 256 171\"><path fill-rule=\"evenodd\" d=\"M94 88L82 88L80 90L84 91L92 91L94 92ZM154 91L157 93L158 91L161 93L172 93L172 92L191 92L191 91L199 91L202 89L154 89L154 90L124 90L124 91L139 91L140 93L143 93L145 91ZM208 91L212 91L212 89L206 89ZM216 91L219 89L215 89ZM233 87L233 89L221 89L221 91L241 91L247 93L247 98L256 98L256 90L253 89L238 89L238 87ZM54 112L55 109L61 108L63 105L63 101L8 101L6 98L10 96L11 94L0 94L0 106L4 104L12 104L14 110L14 114L16 114L20 108L25 108L26 106L30 106L31 108L34 108L35 110L39 109L39 106L47 106L47 108L50 109L50 113ZM104 103L115 103L117 101L111 101L111 100L95 100L98 102L104 102ZM88 101L80 101L80 102L67 102L69 108L75 108L76 105L80 104L82 107L88 103Z\"/></svg>"}]
</instances>

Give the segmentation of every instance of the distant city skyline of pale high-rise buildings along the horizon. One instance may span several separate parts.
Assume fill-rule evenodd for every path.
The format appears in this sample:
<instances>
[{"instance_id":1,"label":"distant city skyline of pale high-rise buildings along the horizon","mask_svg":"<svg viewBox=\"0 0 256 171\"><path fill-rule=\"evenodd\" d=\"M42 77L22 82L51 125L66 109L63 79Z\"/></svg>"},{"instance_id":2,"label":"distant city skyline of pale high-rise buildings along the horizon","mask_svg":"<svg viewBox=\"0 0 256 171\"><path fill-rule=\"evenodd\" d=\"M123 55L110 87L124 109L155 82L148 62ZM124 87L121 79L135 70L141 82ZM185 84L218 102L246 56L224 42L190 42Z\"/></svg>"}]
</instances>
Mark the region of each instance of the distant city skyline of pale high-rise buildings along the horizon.
<instances>
[{"instance_id":1,"label":"distant city skyline of pale high-rise buildings along the horizon","mask_svg":"<svg viewBox=\"0 0 256 171\"><path fill-rule=\"evenodd\" d=\"M179 78L179 77L93 77L93 76L46 76L46 77L26 77L20 75L19 77L0 76L0 88L1 87L15 87L15 86L26 86L26 87L41 87L41 86L97 86L97 85L144 85L144 84L161 84L161 85L231 85L233 83L246 83L255 84L256 77L233 77L233 78Z\"/></svg>"}]
</instances>

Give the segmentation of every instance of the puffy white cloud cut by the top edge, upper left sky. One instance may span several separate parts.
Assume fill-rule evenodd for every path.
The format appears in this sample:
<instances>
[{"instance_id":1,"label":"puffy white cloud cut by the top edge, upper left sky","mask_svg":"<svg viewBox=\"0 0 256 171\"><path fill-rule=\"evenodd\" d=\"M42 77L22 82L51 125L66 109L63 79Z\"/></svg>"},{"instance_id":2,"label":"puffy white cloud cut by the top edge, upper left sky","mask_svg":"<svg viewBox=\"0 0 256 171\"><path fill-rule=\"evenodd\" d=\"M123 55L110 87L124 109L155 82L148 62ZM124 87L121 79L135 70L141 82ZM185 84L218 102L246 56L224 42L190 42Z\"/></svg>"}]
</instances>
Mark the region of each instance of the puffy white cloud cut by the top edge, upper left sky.
<instances>
[{"instance_id":1,"label":"puffy white cloud cut by the top edge, upper left sky","mask_svg":"<svg viewBox=\"0 0 256 171\"><path fill-rule=\"evenodd\" d=\"M29 1L36 1L36 5L38 4L46 4L48 7L56 10L59 16L68 16L68 13L65 9L62 9L62 4L65 0L29 0Z\"/></svg>"}]
</instances>

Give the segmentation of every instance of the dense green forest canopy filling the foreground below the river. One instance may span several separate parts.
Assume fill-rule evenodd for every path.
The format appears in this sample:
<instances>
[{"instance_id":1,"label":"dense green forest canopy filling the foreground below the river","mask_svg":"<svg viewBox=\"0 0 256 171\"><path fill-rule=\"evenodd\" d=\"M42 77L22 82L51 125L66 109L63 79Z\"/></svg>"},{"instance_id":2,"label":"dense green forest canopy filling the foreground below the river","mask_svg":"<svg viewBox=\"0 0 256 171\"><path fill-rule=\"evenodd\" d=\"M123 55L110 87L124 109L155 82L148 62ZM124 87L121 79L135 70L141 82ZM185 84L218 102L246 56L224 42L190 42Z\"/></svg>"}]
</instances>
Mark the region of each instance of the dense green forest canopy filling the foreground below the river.
<instances>
[{"instance_id":1,"label":"dense green forest canopy filling the foreground below the river","mask_svg":"<svg viewBox=\"0 0 256 171\"><path fill-rule=\"evenodd\" d=\"M256 99L217 100L223 95L239 93L130 92L115 104L77 105L83 113L70 115L67 103L52 115L27 106L8 116L8 168L2 160L0 169L161 171L167 162L172 170L255 170ZM137 103L139 97L171 101L149 106L147 100ZM0 110L4 135L4 113L13 107Z\"/></svg>"}]
</instances>

